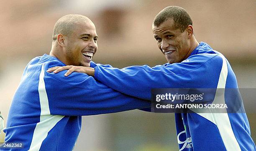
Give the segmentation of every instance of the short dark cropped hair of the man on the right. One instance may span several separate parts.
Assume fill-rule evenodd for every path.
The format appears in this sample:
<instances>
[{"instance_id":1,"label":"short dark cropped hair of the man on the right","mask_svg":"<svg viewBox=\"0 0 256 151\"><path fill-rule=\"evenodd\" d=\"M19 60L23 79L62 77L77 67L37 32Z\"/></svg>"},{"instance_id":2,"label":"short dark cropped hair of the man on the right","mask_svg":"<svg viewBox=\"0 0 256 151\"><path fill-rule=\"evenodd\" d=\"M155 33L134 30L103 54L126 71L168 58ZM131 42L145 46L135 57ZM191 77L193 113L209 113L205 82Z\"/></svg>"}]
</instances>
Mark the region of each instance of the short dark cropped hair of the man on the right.
<instances>
[{"instance_id":1,"label":"short dark cropped hair of the man on the right","mask_svg":"<svg viewBox=\"0 0 256 151\"><path fill-rule=\"evenodd\" d=\"M180 29L181 32L184 32L188 25L192 25L192 20L187 11L179 6L165 7L156 15L153 24L159 27L163 22L171 18L174 20L174 27Z\"/></svg>"}]
</instances>

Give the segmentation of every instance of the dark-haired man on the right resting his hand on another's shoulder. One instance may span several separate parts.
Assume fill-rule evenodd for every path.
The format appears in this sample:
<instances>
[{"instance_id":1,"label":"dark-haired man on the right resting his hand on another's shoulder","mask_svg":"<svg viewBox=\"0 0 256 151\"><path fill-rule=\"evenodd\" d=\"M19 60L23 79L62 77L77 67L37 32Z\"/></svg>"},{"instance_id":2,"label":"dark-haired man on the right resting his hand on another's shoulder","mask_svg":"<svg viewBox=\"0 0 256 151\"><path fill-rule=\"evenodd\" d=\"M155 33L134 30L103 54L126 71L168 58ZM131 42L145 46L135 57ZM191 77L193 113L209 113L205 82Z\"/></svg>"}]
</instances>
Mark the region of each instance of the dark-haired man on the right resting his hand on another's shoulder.
<instances>
[{"instance_id":1,"label":"dark-haired man on the right resting his hand on another's shoulder","mask_svg":"<svg viewBox=\"0 0 256 151\"><path fill-rule=\"evenodd\" d=\"M156 15L153 33L168 63L155 67L131 66L123 69L97 66L53 67L49 72L68 69L84 72L103 84L140 99L151 99L154 88L238 89L236 76L227 59L205 42L195 39L192 20L186 10L169 6ZM72 74L71 74L72 75ZM234 96L215 95L214 101L234 104ZM176 113L179 151L255 151L250 126L242 105L237 113Z\"/></svg>"}]
</instances>

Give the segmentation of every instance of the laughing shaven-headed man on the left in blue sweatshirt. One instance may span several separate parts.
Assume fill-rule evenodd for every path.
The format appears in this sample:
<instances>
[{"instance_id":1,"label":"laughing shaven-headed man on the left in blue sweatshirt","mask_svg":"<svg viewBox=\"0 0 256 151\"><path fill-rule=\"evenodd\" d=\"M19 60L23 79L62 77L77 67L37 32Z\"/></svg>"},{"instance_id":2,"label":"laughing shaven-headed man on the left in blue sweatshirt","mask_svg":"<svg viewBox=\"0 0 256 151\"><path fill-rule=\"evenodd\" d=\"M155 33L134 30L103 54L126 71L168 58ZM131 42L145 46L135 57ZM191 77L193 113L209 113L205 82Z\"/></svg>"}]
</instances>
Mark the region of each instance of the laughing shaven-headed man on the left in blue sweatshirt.
<instances>
[{"instance_id":1,"label":"laughing shaven-headed man on the left in blue sweatshirt","mask_svg":"<svg viewBox=\"0 0 256 151\"><path fill-rule=\"evenodd\" d=\"M22 145L0 150L71 151L81 116L150 107L150 101L116 92L87 74L73 73L67 79L46 72L54 66L96 66L91 62L96 51L96 28L89 18L71 14L56 22L50 55L36 57L26 66L3 130L5 144Z\"/></svg>"}]
</instances>

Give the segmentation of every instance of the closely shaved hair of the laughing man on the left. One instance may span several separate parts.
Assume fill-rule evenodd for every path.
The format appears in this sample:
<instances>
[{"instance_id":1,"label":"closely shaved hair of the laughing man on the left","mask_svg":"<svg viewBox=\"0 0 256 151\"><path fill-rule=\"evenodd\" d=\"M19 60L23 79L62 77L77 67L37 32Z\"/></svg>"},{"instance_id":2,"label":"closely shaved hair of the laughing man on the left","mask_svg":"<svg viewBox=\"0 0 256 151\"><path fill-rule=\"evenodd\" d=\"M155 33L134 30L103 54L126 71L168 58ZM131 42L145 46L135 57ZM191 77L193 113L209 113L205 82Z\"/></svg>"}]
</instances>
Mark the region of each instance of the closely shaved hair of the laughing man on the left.
<instances>
[{"instance_id":1,"label":"closely shaved hair of the laughing man on the left","mask_svg":"<svg viewBox=\"0 0 256 151\"><path fill-rule=\"evenodd\" d=\"M74 24L81 20L90 20L88 17L78 14L69 14L62 16L54 25L52 39L56 40L58 34L70 35L73 31Z\"/></svg>"}]
</instances>

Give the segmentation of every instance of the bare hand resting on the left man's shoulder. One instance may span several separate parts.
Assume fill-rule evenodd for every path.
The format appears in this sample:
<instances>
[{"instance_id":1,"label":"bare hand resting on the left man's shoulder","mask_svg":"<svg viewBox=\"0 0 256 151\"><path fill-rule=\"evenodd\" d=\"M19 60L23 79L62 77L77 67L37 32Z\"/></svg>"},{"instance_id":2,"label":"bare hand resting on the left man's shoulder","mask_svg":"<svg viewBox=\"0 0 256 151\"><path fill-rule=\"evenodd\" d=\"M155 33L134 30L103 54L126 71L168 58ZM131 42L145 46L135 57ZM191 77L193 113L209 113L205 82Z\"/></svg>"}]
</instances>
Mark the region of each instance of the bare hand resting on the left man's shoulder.
<instances>
[{"instance_id":1,"label":"bare hand resting on the left man's shoulder","mask_svg":"<svg viewBox=\"0 0 256 151\"><path fill-rule=\"evenodd\" d=\"M63 67L59 67L59 66L56 66L56 67L51 67L49 69L47 69L47 72L53 72L53 73L58 73L58 72L61 72L63 70L68 70L64 76L69 76L69 74L71 74L72 72L79 72L79 73L85 73L85 74L88 74L89 76L92 76L94 77L94 68L92 67L83 67L83 66L63 66Z\"/></svg>"}]
</instances>

